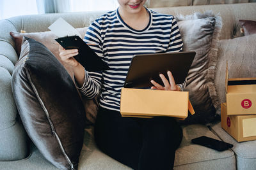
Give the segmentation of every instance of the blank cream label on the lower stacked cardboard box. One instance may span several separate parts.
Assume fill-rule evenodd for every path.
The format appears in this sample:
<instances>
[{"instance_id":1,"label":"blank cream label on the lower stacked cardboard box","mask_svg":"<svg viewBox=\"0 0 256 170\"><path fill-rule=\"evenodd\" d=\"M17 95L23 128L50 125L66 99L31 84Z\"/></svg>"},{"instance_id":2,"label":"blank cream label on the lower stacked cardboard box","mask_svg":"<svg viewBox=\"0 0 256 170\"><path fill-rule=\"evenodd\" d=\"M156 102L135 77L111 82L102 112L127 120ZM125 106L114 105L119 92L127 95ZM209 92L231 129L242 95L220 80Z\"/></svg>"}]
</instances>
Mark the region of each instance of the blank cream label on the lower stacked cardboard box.
<instances>
[{"instance_id":1,"label":"blank cream label on the lower stacked cardboard box","mask_svg":"<svg viewBox=\"0 0 256 170\"><path fill-rule=\"evenodd\" d=\"M256 136L256 118L243 119L243 137Z\"/></svg>"}]
</instances>

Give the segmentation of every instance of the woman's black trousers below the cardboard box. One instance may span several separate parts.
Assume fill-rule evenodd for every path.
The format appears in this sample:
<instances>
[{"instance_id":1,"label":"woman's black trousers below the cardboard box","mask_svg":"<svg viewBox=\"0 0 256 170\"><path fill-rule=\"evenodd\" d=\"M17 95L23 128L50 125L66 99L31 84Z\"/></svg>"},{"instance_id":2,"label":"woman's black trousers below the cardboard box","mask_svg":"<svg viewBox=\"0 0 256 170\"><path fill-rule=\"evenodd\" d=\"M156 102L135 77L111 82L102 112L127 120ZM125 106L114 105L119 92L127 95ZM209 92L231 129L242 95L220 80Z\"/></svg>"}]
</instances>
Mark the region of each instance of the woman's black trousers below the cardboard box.
<instances>
[{"instance_id":1,"label":"woman's black trousers below the cardboard box","mask_svg":"<svg viewBox=\"0 0 256 170\"><path fill-rule=\"evenodd\" d=\"M173 169L182 136L171 117L129 118L99 108L95 122L100 150L133 169Z\"/></svg>"}]
</instances>

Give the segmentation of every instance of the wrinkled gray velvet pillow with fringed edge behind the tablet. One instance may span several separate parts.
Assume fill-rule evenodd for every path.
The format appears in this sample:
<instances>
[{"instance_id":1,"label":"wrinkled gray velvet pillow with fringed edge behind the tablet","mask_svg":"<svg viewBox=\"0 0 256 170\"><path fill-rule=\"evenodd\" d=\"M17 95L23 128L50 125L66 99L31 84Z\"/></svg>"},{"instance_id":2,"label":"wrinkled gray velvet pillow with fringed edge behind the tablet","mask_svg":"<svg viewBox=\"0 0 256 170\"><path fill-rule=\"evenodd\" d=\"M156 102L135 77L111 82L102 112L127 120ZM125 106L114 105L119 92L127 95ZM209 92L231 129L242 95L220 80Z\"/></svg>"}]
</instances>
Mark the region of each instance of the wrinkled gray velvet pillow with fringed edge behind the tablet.
<instances>
[{"instance_id":1,"label":"wrinkled gray velvet pillow with fringed edge behind the tablet","mask_svg":"<svg viewBox=\"0 0 256 170\"><path fill-rule=\"evenodd\" d=\"M218 96L214 86L217 61L217 42L221 18L212 11L176 17L184 43L184 51L195 51L196 56L189 70L186 90L196 114L189 115L184 123L207 124L220 117L216 115Z\"/></svg>"}]
</instances>

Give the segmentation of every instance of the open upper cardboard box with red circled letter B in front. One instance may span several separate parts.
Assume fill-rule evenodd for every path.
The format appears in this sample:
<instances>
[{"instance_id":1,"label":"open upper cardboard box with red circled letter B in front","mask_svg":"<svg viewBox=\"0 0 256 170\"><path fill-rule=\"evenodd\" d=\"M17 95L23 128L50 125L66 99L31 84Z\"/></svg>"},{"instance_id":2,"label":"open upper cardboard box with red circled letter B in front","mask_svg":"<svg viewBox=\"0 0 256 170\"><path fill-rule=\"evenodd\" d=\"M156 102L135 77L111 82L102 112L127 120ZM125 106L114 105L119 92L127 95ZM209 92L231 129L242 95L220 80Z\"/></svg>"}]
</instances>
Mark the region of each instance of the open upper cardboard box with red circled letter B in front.
<instances>
[{"instance_id":1,"label":"open upper cardboard box with red circled letter B in front","mask_svg":"<svg viewBox=\"0 0 256 170\"><path fill-rule=\"evenodd\" d=\"M256 78L228 78L226 71L227 115L256 114Z\"/></svg>"}]
</instances>

